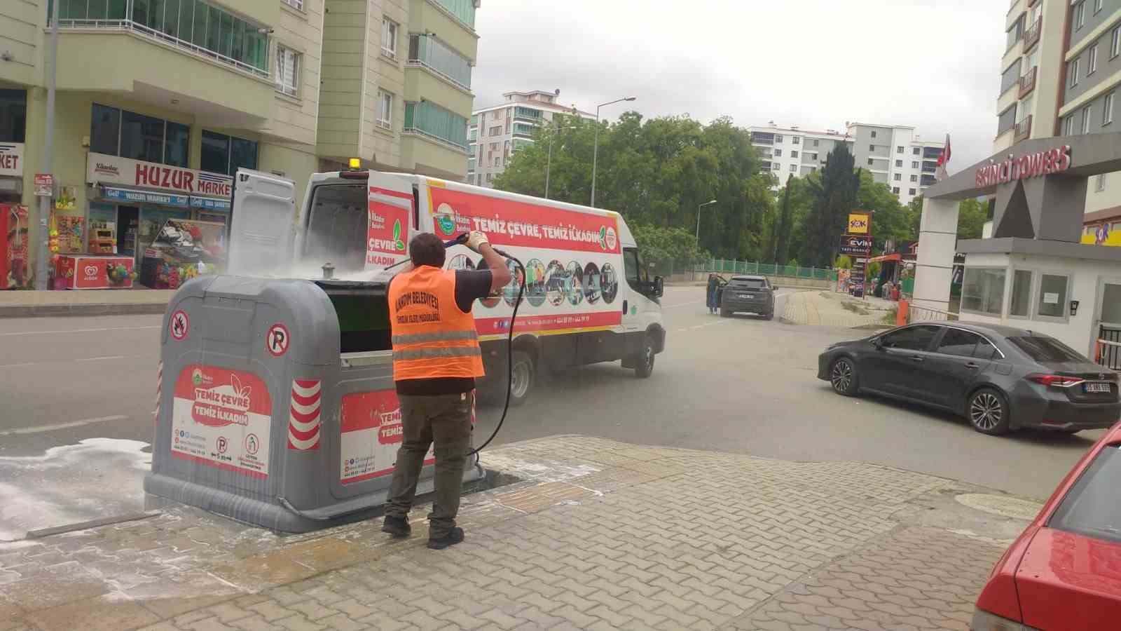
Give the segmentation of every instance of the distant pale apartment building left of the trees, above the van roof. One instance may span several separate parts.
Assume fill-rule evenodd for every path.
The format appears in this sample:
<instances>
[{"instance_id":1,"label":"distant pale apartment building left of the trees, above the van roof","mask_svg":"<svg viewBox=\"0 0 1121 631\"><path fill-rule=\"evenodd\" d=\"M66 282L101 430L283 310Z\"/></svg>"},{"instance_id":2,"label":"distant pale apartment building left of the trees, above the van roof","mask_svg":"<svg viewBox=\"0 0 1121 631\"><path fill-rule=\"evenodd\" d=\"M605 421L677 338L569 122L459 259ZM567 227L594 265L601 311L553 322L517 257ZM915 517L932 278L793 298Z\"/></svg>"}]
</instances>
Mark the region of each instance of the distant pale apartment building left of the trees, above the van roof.
<instances>
[{"instance_id":1,"label":"distant pale apartment building left of the trees, above the van roof","mask_svg":"<svg viewBox=\"0 0 1121 631\"><path fill-rule=\"evenodd\" d=\"M472 112L467 130L467 182L491 188L506 171L513 152L532 143L534 128L554 124L554 117L595 115L559 103L560 91L504 92L498 106ZM562 125L560 119L556 119Z\"/></svg>"}]
</instances>

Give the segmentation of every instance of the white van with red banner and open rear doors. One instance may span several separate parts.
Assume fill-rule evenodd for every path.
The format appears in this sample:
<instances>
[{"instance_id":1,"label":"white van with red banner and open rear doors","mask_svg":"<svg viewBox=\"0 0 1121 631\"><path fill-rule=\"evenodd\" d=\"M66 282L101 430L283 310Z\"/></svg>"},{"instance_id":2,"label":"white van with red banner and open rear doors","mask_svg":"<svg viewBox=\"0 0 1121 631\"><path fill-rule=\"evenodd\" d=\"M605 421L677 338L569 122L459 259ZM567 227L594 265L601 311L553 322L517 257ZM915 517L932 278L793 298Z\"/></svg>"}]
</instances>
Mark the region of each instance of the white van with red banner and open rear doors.
<instances>
[{"instance_id":1,"label":"white van with red banner and open rear doors","mask_svg":"<svg viewBox=\"0 0 1121 631\"><path fill-rule=\"evenodd\" d=\"M648 275L617 212L367 170L313 174L298 212L294 191L284 177L238 171L229 273L319 277L331 264L337 278L368 280L406 259L418 231L452 240L482 230L519 258L526 292L515 323L511 404L526 401L543 367L621 359L647 377L665 349L663 280ZM465 246L448 249L448 268L480 263ZM506 392L506 344L521 274L509 265L510 285L473 310L488 374L483 394ZM344 347L345 336L344 326Z\"/></svg>"}]
</instances>

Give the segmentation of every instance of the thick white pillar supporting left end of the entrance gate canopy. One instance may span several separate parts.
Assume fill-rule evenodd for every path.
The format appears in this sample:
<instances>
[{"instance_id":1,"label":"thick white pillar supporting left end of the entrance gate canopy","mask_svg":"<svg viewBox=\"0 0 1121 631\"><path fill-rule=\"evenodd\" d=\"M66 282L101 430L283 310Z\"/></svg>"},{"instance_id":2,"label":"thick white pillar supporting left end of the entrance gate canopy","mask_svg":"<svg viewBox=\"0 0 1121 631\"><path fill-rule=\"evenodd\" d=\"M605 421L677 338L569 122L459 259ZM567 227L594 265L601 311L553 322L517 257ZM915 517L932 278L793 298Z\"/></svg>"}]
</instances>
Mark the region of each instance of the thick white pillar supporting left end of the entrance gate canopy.
<instances>
[{"instance_id":1,"label":"thick white pillar supporting left end of the entrance gate canopy","mask_svg":"<svg viewBox=\"0 0 1121 631\"><path fill-rule=\"evenodd\" d=\"M949 282L957 246L958 200L923 200L918 260L915 263L916 307L949 310Z\"/></svg>"}]
</instances>

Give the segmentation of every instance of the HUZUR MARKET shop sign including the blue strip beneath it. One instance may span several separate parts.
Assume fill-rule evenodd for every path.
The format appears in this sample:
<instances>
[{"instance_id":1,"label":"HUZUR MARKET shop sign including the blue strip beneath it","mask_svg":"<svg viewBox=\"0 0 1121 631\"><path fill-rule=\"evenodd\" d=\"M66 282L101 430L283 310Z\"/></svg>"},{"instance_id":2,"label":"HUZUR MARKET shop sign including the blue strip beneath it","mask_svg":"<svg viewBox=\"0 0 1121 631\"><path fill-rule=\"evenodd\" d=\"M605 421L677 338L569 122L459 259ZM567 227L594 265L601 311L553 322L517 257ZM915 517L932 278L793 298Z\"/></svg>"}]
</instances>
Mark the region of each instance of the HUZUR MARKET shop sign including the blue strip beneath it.
<instances>
[{"instance_id":1,"label":"HUZUR MARKET shop sign including the blue strip beneath it","mask_svg":"<svg viewBox=\"0 0 1121 631\"><path fill-rule=\"evenodd\" d=\"M233 177L90 153L85 180L103 189L103 196L127 202L230 210Z\"/></svg>"}]
</instances>

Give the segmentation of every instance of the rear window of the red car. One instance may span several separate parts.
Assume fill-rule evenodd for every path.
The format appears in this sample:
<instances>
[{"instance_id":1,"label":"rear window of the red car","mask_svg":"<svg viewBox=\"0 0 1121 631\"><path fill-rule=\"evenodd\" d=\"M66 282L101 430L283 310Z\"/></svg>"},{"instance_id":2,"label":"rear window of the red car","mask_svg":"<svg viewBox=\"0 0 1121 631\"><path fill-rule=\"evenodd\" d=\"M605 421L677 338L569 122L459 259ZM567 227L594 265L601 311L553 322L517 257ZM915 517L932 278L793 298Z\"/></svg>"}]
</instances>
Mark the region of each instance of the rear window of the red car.
<instances>
[{"instance_id":1,"label":"rear window of the red car","mask_svg":"<svg viewBox=\"0 0 1121 631\"><path fill-rule=\"evenodd\" d=\"M1081 357L1078 360L1085 362ZM1121 523L1121 503L1117 501L1119 475L1121 447L1103 447L1086 467L1086 473L1071 487L1047 525L1103 541L1121 541L1121 533L1114 527Z\"/></svg>"}]
</instances>

